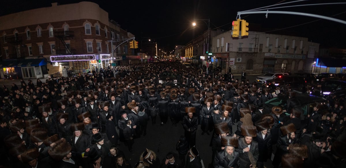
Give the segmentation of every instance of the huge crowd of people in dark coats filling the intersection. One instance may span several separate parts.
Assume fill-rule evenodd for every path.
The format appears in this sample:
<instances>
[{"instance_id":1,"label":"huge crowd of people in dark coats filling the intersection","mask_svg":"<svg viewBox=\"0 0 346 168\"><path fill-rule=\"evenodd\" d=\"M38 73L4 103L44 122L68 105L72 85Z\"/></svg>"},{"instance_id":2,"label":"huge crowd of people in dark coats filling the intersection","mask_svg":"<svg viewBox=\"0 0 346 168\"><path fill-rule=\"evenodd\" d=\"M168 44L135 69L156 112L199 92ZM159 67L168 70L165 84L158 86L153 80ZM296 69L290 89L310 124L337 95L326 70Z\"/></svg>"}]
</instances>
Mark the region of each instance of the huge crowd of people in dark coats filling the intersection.
<instances>
[{"instance_id":1,"label":"huge crowd of people in dark coats filling the intersection","mask_svg":"<svg viewBox=\"0 0 346 168\"><path fill-rule=\"evenodd\" d=\"M316 103L304 115L292 88L259 87L245 72L239 81L202 66L136 66L3 85L2 167L201 168L198 148L209 146L214 168L263 168L268 159L274 168L346 167L344 97L331 97L330 106ZM177 83L160 84L163 71L175 73ZM275 96L287 103L265 108ZM181 129L179 123L184 129L176 151L161 160L146 149L130 165L118 147L132 152L148 123L161 127L169 120L172 129ZM196 146L198 128L212 135L210 144Z\"/></svg>"}]
</instances>

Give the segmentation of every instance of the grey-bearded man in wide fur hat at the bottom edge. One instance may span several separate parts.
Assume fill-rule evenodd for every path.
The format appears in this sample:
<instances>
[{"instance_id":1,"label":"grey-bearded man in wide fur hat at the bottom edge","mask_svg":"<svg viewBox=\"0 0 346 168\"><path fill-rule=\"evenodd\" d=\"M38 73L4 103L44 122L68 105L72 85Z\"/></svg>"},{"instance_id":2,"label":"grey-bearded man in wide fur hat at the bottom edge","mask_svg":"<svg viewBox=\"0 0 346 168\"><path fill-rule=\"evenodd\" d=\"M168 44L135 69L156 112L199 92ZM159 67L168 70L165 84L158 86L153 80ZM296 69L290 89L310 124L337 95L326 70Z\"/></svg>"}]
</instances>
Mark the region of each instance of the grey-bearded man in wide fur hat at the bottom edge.
<instances>
[{"instance_id":1,"label":"grey-bearded man in wide fur hat at the bottom edge","mask_svg":"<svg viewBox=\"0 0 346 168\"><path fill-rule=\"evenodd\" d=\"M213 158L213 167L230 168L239 167L238 139L236 137L221 137L221 145L223 150L217 151Z\"/></svg>"}]
</instances>

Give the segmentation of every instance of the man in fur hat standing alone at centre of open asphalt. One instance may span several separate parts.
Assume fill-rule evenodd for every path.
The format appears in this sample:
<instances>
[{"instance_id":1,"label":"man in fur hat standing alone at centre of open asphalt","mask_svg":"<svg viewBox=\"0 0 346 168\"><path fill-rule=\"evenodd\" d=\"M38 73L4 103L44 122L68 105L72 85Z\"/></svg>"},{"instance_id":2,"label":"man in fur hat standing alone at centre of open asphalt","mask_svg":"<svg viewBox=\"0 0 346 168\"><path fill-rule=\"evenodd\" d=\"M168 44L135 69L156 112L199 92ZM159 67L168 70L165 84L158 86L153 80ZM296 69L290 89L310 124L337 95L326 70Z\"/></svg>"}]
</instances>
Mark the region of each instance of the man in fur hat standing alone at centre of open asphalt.
<instances>
[{"instance_id":1,"label":"man in fur hat standing alone at centre of open asphalt","mask_svg":"<svg viewBox=\"0 0 346 168\"><path fill-rule=\"evenodd\" d=\"M185 107L185 115L183 118L183 127L185 129L186 140L190 144L190 148L196 144L196 130L198 127L197 116L193 115L196 112L195 107Z\"/></svg>"}]
</instances>

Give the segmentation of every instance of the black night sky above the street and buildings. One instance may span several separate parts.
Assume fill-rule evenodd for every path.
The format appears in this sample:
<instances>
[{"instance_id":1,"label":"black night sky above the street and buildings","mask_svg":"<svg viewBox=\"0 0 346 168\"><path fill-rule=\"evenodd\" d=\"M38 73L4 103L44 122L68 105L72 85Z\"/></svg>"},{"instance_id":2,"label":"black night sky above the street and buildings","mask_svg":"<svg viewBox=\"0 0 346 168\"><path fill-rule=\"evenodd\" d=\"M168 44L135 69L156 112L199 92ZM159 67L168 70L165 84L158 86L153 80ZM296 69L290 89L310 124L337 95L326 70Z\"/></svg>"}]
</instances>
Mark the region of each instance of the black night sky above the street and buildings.
<instances>
[{"instance_id":1,"label":"black night sky above the street and buildings","mask_svg":"<svg viewBox=\"0 0 346 168\"><path fill-rule=\"evenodd\" d=\"M52 2L60 4L76 3L81 0L0 0L2 8L0 15L20 12L29 9L49 7ZM207 24L203 21L197 22L197 27L192 27L195 19L210 18L211 29L222 29L228 31L231 23L237 17L238 11L251 10L265 7L276 3L292 2L292 0L91 0L109 13L109 18L118 22L122 29L131 32L136 40L147 40L148 38L157 42L158 46L166 50L174 49L175 45L185 45L207 30ZM35 2L35 3L34 3ZM236 3L235 3L236 2ZM261 2L261 3L259 3ZM345 0L306 0L283 6L293 6L312 3L346 2ZM321 5L271 9L272 11L295 11L318 15L330 16L346 20L346 4ZM296 34L309 38L309 41L320 43L321 47L346 48L346 24L323 20L312 17L289 14L250 14L241 15L242 19L262 30L283 29L268 33L280 34L282 31L288 34ZM313 22L312 22L313 21ZM303 24L311 22L308 24ZM302 25L301 25L302 24ZM298 26L295 26L298 25ZM295 26L295 27L292 27ZM292 27L292 28L289 28ZM254 28L254 27L253 27ZM285 29L286 28L286 29ZM142 38L141 38L142 36ZM159 48L161 48L159 47Z\"/></svg>"}]
</instances>

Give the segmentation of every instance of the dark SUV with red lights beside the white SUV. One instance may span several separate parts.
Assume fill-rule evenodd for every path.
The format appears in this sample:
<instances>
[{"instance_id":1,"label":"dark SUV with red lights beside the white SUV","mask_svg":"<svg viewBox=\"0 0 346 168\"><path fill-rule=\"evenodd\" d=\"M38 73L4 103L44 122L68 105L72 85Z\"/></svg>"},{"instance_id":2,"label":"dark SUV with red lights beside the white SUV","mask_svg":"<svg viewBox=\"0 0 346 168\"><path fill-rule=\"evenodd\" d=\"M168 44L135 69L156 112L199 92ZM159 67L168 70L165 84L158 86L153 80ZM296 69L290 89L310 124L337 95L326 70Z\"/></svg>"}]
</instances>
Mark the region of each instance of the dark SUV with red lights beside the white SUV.
<instances>
[{"instance_id":1,"label":"dark SUV with red lights beside the white SUV","mask_svg":"<svg viewBox=\"0 0 346 168\"><path fill-rule=\"evenodd\" d=\"M267 80L266 82L268 87L272 87L272 82L275 82L275 87L280 87L283 89L286 86L291 86L292 89L302 92L305 89L307 81L302 76L283 75L277 76L271 80Z\"/></svg>"}]
</instances>

